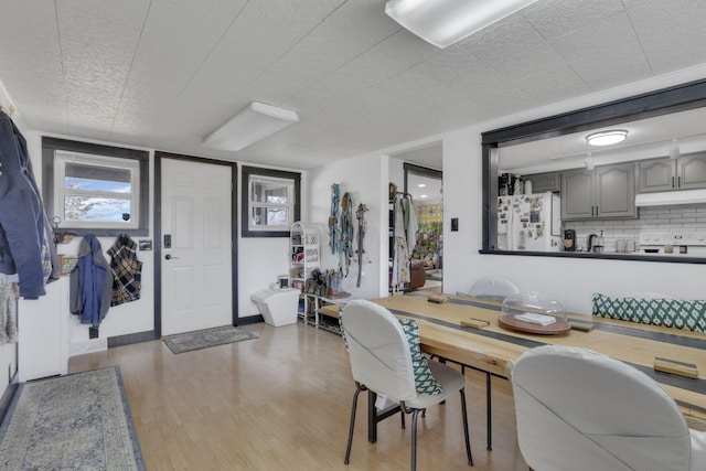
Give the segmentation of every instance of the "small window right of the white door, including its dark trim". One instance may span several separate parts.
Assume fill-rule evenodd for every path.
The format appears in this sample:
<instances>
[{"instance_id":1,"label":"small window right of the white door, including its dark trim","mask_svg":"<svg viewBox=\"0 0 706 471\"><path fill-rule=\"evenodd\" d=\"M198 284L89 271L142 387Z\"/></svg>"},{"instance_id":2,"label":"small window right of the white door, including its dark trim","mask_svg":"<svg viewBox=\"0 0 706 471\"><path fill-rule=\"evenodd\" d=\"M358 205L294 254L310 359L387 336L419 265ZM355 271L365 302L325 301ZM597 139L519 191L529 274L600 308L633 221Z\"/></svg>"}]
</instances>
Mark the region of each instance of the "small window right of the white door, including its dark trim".
<instances>
[{"instance_id":1,"label":"small window right of the white door, including its dark trim","mask_svg":"<svg viewBox=\"0 0 706 471\"><path fill-rule=\"evenodd\" d=\"M298 173L243 168L243 235L282 237L299 218Z\"/></svg>"}]
</instances>

